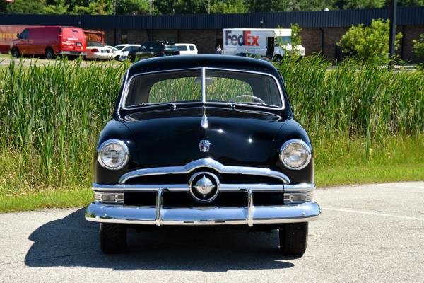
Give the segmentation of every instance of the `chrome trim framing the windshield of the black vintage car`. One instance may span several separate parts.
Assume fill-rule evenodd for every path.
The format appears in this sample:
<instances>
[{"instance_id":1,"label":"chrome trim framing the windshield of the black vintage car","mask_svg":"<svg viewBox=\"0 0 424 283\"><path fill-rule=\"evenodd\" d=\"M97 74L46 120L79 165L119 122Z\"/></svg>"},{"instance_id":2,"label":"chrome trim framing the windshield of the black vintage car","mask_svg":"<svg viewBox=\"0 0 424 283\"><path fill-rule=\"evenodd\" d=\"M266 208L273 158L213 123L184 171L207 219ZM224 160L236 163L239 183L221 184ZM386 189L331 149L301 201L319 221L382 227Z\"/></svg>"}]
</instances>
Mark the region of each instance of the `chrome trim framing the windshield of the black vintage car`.
<instances>
[{"instance_id":1,"label":"chrome trim framing the windshield of the black vintage car","mask_svg":"<svg viewBox=\"0 0 424 283\"><path fill-rule=\"evenodd\" d=\"M124 105L124 102L126 100L126 97L128 96L128 92L129 92L129 85L131 84L131 81L136 77L136 76L143 76L146 74L160 74L160 73L166 73L166 72L171 72L171 71L192 71L192 70L201 70L202 68L205 68L205 71L210 69L210 70L216 70L216 71L239 71L242 73L250 73L250 74L259 74L259 75L263 75L263 76L271 76L271 78L273 78L273 80L276 82L277 84L277 88L278 88L278 92L280 94L280 99L281 99L281 108L274 108L274 107L266 107L266 106L261 106L261 105L249 105L249 107L254 107L254 108L261 108L261 109L271 109L271 110L284 110L285 109L285 100L284 100L284 96L283 96L283 88L281 88L280 83L278 82L278 79L276 78L276 76L273 76L272 74L267 74L267 73L263 73L261 71L249 71L249 70L243 70L243 69L226 69L226 68L213 68L213 67L196 67L196 68L186 68L186 69L169 69L169 70L163 70L163 71L147 71L147 72L143 72L143 73L139 73L139 74L134 74L131 77L129 76L129 72L127 72L126 74L126 78L124 81L124 89L122 90L122 96L121 96L121 100L119 101L119 107L117 108L117 116L119 117L119 110L123 109L123 110L131 110L131 109L143 109L146 106L141 106L141 107L134 107L134 108L127 108ZM204 77L202 75L202 77ZM202 79L202 84L203 84L203 79ZM203 89L202 89L203 91ZM203 96L203 95L202 95ZM206 95L205 95L206 98ZM203 100L203 99L202 99ZM203 102L203 101L199 101L196 103L203 103L204 105L208 105L208 104L223 104L223 105L232 105L232 103L211 103L211 102ZM180 103L175 103L176 105L180 104ZM184 104L188 104L188 103L184 103Z\"/></svg>"}]
</instances>

